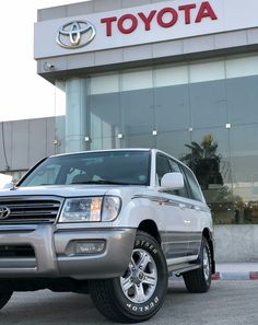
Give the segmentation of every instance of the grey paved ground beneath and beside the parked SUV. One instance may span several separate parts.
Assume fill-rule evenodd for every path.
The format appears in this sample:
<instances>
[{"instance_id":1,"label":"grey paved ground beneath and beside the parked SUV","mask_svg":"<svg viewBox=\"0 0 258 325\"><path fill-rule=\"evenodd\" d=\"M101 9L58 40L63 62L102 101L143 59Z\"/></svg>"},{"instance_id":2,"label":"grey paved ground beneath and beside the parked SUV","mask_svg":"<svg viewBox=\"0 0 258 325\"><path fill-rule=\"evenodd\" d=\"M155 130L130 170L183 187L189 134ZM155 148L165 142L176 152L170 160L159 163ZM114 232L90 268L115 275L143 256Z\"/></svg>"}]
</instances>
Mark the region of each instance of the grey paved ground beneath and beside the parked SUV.
<instances>
[{"instance_id":1,"label":"grey paved ground beneath and beside the parked SUV","mask_svg":"<svg viewBox=\"0 0 258 325\"><path fill-rule=\"evenodd\" d=\"M148 325L257 325L258 281L213 281L204 294L190 294L173 281L165 305ZM48 290L15 293L0 313L1 325L112 324L81 294Z\"/></svg>"}]
</instances>

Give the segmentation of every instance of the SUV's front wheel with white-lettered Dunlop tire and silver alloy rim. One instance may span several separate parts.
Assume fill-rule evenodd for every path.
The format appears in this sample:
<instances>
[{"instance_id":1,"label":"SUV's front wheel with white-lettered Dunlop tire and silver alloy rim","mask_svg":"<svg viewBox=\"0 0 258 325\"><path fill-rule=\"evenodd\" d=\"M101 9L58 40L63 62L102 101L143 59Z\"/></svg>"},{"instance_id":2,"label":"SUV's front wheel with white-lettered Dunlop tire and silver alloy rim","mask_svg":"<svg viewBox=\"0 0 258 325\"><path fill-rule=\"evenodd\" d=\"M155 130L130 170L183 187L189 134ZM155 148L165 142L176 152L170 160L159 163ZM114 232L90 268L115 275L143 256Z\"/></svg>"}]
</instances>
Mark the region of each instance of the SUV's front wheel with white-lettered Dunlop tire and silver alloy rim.
<instances>
[{"instance_id":1,"label":"SUV's front wheel with white-lettered Dunlop tire and silver alloy rim","mask_svg":"<svg viewBox=\"0 0 258 325\"><path fill-rule=\"evenodd\" d=\"M131 260L122 277L90 282L97 310L118 323L139 323L155 315L166 290L167 266L161 246L142 231L137 232Z\"/></svg>"}]
</instances>

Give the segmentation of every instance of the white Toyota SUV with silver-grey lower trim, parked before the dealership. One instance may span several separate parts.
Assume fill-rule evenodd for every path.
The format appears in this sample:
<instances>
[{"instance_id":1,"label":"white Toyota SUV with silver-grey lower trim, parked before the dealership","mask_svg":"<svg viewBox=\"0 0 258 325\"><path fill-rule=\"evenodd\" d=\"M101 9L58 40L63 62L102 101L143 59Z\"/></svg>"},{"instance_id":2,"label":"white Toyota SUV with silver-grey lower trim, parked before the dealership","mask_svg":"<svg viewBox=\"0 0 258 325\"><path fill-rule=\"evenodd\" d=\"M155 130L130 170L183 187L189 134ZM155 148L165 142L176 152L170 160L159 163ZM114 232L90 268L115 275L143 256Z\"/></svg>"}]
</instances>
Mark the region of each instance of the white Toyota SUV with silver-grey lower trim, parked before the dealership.
<instances>
[{"instance_id":1,"label":"white Toyota SUV with silver-grey lower trim, parked before the dealership","mask_svg":"<svg viewBox=\"0 0 258 325\"><path fill-rule=\"evenodd\" d=\"M91 293L106 317L153 316L168 276L206 292L212 219L192 172L159 150L47 158L0 191L0 307L13 291Z\"/></svg>"}]
</instances>

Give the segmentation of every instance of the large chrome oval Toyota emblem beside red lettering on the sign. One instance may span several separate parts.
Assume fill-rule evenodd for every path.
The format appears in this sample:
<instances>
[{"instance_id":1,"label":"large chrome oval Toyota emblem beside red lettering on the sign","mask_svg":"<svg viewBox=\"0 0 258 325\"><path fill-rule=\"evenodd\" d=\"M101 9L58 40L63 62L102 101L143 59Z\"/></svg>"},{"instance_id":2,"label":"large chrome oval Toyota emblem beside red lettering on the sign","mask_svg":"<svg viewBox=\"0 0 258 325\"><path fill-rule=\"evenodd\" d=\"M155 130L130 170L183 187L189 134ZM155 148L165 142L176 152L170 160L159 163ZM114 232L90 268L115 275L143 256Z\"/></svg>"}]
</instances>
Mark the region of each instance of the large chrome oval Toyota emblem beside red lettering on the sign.
<instances>
[{"instance_id":1,"label":"large chrome oval Toyota emblem beside red lettering on the sign","mask_svg":"<svg viewBox=\"0 0 258 325\"><path fill-rule=\"evenodd\" d=\"M96 35L95 26L89 21L70 22L57 33L57 44L63 48L80 48L91 43Z\"/></svg>"}]
</instances>

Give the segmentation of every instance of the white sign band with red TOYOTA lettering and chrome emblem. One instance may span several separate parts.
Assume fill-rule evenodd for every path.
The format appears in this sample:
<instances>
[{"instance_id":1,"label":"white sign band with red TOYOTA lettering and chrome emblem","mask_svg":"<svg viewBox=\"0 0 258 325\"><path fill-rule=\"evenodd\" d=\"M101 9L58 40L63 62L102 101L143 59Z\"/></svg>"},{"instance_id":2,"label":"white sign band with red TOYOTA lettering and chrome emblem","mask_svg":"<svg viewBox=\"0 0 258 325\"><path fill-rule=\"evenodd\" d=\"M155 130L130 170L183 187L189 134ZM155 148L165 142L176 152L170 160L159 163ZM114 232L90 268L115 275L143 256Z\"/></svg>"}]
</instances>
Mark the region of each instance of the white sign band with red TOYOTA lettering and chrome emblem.
<instances>
[{"instance_id":1,"label":"white sign band with red TOYOTA lettering and chrome emblem","mask_svg":"<svg viewBox=\"0 0 258 325\"><path fill-rule=\"evenodd\" d=\"M35 24L35 58L121 48L257 26L257 0L172 0Z\"/></svg>"}]
</instances>

